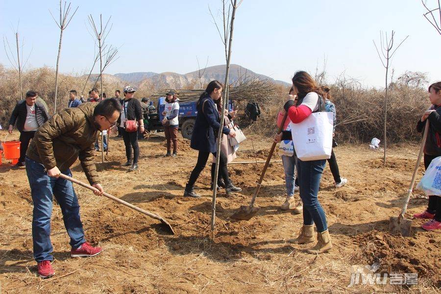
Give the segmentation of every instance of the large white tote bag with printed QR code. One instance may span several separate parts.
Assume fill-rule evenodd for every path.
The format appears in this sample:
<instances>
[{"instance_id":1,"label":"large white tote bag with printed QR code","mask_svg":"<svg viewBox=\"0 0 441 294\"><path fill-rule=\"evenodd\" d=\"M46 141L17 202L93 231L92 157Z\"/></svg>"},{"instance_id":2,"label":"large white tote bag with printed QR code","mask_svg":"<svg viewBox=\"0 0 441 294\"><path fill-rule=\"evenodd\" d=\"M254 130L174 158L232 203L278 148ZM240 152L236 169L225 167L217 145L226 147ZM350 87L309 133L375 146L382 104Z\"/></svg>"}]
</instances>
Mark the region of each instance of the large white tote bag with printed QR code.
<instances>
[{"instance_id":1,"label":"large white tote bag with printed QR code","mask_svg":"<svg viewBox=\"0 0 441 294\"><path fill-rule=\"evenodd\" d=\"M312 113L301 123L290 123L297 157L302 161L329 159L332 151L332 112Z\"/></svg>"}]
</instances>

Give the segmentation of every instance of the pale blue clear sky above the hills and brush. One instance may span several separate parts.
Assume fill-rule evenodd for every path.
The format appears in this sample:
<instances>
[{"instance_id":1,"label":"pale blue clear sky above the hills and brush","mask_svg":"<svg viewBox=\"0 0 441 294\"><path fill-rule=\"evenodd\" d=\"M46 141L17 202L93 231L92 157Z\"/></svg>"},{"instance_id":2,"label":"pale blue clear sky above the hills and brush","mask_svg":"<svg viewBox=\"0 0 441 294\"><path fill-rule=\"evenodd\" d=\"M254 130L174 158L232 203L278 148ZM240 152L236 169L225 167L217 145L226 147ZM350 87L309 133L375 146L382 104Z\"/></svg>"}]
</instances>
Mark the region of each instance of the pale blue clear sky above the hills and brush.
<instances>
[{"instance_id":1,"label":"pale blue clear sky above the hills and brush","mask_svg":"<svg viewBox=\"0 0 441 294\"><path fill-rule=\"evenodd\" d=\"M435 5L435 0L427 0ZM0 0L0 34L13 41L11 26L20 21L25 52L32 47L28 66L55 68L59 28L49 15L56 0ZM94 40L87 15L112 16L109 44L121 47L119 59L107 73L175 72L224 64L224 51L208 12L220 0L72 0L79 6L64 31L60 70L88 72ZM372 40L379 31L396 31L397 41L410 35L392 60L395 77L406 70L427 72L441 80L441 36L422 17L419 0L244 0L237 10L232 63L256 73L289 82L297 70L314 72L327 59L332 81L343 71L365 85L384 85L384 68ZM0 63L9 66L4 50Z\"/></svg>"}]
</instances>

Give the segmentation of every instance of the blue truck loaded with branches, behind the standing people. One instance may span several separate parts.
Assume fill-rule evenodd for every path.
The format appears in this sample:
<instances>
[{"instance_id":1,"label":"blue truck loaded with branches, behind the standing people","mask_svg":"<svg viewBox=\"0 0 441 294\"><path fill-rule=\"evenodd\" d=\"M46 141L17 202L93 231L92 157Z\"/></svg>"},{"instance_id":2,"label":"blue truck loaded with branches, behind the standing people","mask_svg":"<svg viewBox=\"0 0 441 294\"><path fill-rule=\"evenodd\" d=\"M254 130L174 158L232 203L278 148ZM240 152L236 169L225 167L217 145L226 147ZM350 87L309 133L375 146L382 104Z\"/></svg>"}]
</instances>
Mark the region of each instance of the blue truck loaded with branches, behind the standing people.
<instances>
[{"instance_id":1,"label":"blue truck loaded with branches, behind the standing people","mask_svg":"<svg viewBox=\"0 0 441 294\"><path fill-rule=\"evenodd\" d=\"M190 102L179 102L179 128L181 129L182 137L186 139L192 138L193 126L195 125L197 109L196 109L197 101ZM165 97L158 98L157 103L157 112L151 113L148 116L147 122L147 130L148 131L158 131L163 132L164 128L161 124L164 116L162 112L165 108ZM229 100L228 110L231 111L233 109L233 101Z\"/></svg>"}]
</instances>

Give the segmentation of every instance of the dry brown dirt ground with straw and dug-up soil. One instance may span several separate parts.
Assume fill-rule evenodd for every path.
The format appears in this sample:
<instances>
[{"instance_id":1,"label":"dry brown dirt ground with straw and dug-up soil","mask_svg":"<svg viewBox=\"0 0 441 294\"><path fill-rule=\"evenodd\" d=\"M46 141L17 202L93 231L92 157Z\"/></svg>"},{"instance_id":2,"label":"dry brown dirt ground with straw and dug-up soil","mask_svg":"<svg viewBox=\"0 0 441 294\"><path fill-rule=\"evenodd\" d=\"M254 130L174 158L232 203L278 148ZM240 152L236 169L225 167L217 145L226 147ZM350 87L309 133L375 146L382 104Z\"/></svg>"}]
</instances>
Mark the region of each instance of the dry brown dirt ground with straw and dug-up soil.
<instances>
[{"instance_id":1,"label":"dry brown dirt ground with straw and dug-up soil","mask_svg":"<svg viewBox=\"0 0 441 294\"><path fill-rule=\"evenodd\" d=\"M3 138L5 132L0 132ZM18 137L18 134L14 134ZM9 138L8 138L9 139ZM181 138L182 139L182 138ZM270 139L248 138L236 162L265 160ZM94 258L70 258L69 237L54 203L51 241L56 275L41 280L32 258L32 200L25 169L0 166L0 292L4 293L440 293L441 234L426 232L413 221L408 238L388 232L389 217L397 216L417 160L417 145L394 146L386 166L381 152L363 146L335 149L342 176L349 182L335 189L329 167L319 198L325 209L334 248L311 255L292 245L302 216L278 207L284 199L281 163L265 176L249 221L229 216L249 203L263 164L231 165L233 182L244 190L217 199L214 237L210 231L210 169L197 181L199 199L184 198L183 190L197 153L180 141L177 158L162 157L165 142L151 137L140 142L140 169L127 173L123 141L111 138L106 162L97 152L104 189L125 201L156 212L172 224L168 235L158 221L89 190L75 186L86 238L104 251ZM275 155L273 160L280 160ZM86 181L76 163L73 176ZM422 176L421 165L418 179ZM298 197L298 192L296 192ZM416 191L407 217L425 209L427 199ZM418 285L358 285L347 287L352 265L380 263L388 272L418 273ZM3 293L1 292L1 293Z\"/></svg>"}]
</instances>

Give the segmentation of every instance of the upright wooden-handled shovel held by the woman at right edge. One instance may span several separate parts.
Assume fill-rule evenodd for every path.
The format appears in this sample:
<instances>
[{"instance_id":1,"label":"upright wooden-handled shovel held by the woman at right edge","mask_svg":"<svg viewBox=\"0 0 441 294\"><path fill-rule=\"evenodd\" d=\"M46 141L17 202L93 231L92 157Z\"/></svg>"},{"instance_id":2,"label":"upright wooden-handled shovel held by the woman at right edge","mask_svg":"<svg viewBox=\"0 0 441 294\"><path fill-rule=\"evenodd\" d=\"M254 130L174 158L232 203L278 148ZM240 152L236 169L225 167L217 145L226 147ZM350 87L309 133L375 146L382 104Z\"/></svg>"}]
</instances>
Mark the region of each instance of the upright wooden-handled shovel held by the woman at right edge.
<instances>
[{"instance_id":1,"label":"upright wooden-handled shovel held by the woman at right edge","mask_svg":"<svg viewBox=\"0 0 441 294\"><path fill-rule=\"evenodd\" d=\"M409 190L407 190L407 198L404 201L403 209L401 209L401 213L398 217L391 217L389 220L389 230L392 234L401 234L404 237L409 237L411 235L412 230L412 220L405 219L404 214L407 210L407 204L409 204L410 196L412 195L412 190L414 189L415 178L417 177L417 172L419 168L419 162L421 161L421 157L424 151L424 145L426 143L427 133L429 131L429 120L426 119L426 127L424 128L424 134L421 141L421 146L419 147L417 165L415 166L414 175L412 176L412 181L409 186Z\"/></svg>"}]
</instances>

